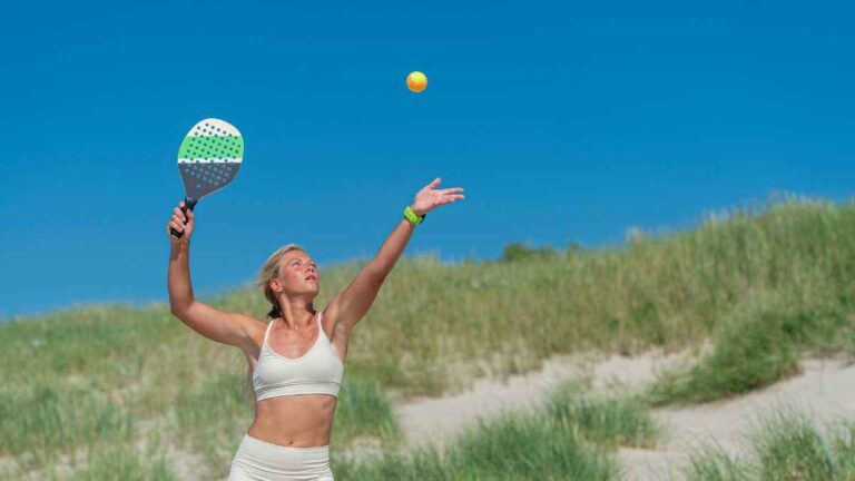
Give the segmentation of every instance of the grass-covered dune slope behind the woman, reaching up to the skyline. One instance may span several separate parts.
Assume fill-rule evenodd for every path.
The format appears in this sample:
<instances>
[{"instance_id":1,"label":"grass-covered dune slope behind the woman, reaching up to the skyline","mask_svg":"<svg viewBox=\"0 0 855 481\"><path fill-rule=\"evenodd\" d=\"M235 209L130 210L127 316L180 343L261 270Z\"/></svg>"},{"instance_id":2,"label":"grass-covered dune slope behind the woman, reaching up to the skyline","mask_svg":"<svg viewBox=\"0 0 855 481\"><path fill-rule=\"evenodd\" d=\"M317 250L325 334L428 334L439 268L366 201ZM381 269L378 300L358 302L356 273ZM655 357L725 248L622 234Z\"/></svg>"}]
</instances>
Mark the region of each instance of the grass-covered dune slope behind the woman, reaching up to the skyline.
<instances>
[{"instance_id":1,"label":"grass-covered dune slope behind the woman, reaching up to the skyline","mask_svg":"<svg viewBox=\"0 0 855 481\"><path fill-rule=\"evenodd\" d=\"M364 263L323 269L316 307ZM764 385L794 372L805 350L855 354L854 273L855 207L805 199L710 216L691 232L635 234L623 246L514 244L497 261L452 264L405 257L353 333L332 443L373 436L394 445L384 405L580 350L632 354L712 340L710 359L662 399ZM258 318L268 310L248 287L202 301ZM165 421L158 429L219 473L252 420L243 354L203 338L164 304L14 318L0 325L0 349L13 353L0 364L0 458L32 469ZM754 372L743 375L731 360Z\"/></svg>"}]
</instances>

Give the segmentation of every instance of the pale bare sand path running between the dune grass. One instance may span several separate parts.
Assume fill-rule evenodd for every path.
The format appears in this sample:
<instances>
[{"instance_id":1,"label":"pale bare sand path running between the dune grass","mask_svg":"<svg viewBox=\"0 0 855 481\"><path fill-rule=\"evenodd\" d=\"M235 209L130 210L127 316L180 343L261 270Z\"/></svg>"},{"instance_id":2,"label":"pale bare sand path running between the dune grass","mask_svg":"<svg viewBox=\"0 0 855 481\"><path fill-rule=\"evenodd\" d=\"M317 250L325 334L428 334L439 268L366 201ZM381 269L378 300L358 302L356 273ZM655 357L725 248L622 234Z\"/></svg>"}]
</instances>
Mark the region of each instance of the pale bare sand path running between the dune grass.
<instances>
[{"instance_id":1,"label":"pale bare sand path running between the dune grass","mask_svg":"<svg viewBox=\"0 0 855 481\"><path fill-rule=\"evenodd\" d=\"M538 406L561 381L588 377L596 392L638 390L653 381L659 370L682 359L655 353L599 360L553 356L539 371L511 376L507 382L479 380L465 393L413 400L395 411L407 445L431 443L441 448L479 418ZM834 360L809 360L802 365L802 374L745 396L655 410L653 416L666 428L668 439L657 450L620 450L626 479L681 479L689 452L700 443L718 443L738 453L751 423L777 408L798 408L818 421L855 420L855 365Z\"/></svg>"}]
</instances>

